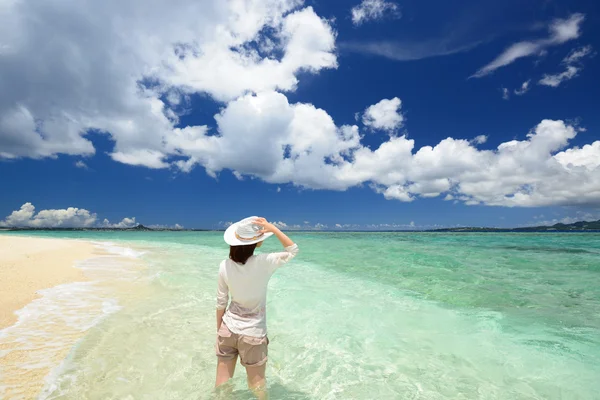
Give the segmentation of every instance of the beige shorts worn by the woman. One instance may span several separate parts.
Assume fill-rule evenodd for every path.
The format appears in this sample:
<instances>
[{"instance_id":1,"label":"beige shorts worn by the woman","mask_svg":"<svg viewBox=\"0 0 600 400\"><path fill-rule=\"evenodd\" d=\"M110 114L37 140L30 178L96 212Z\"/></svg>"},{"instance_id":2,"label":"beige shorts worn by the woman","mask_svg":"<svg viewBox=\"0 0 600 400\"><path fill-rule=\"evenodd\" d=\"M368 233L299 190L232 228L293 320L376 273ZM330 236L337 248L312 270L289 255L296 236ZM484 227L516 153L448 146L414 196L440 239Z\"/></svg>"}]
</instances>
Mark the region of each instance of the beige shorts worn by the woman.
<instances>
[{"instance_id":1,"label":"beige shorts worn by the woman","mask_svg":"<svg viewBox=\"0 0 600 400\"><path fill-rule=\"evenodd\" d=\"M244 367L260 367L267 362L269 338L238 335L224 322L217 332L217 357L232 360L238 354Z\"/></svg>"}]
</instances>

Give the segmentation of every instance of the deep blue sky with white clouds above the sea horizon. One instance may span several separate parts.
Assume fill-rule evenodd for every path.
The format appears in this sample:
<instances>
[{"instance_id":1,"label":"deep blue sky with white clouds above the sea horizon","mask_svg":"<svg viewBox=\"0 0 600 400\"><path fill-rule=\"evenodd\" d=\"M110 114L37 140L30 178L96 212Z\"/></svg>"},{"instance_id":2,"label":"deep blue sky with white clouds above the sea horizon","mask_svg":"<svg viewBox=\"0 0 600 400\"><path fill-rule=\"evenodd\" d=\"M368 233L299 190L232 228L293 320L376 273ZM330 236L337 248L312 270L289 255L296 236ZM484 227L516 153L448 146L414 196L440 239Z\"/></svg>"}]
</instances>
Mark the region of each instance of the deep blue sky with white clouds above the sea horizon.
<instances>
[{"instance_id":1,"label":"deep blue sky with white clouds above the sea horizon","mask_svg":"<svg viewBox=\"0 0 600 400\"><path fill-rule=\"evenodd\" d=\"M600 218L596 2L4 7L0 224Z\"/></svg>"}]
</instances>

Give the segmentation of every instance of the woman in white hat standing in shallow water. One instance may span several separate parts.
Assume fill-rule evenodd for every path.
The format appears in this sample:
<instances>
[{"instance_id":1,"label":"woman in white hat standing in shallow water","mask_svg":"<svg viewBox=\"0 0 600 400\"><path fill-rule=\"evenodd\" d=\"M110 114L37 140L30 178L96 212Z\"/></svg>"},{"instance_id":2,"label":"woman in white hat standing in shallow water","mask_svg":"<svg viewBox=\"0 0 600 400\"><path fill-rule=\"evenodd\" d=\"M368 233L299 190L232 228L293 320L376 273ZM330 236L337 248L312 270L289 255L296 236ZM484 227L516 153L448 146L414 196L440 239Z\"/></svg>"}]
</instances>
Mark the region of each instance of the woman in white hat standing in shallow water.
<instances>
[{"instance_id":1,"label":"woman in white hat standing in shallow water","mask_svg":"<svg viewBox=\"0 0 600 400\"><path fill-rule=\"evenodd\" d=\"M284 251L254 255L254 249L272 235L279 239ZM267 285L273 272L298 253L298 246L275 225L258 217L236 222L227 228L224 237L230 247L229 259L219 266L216 386L233 376L239 355L248 374L248 387L264 398L269 345Z\"/></svg>"}]
</instances>

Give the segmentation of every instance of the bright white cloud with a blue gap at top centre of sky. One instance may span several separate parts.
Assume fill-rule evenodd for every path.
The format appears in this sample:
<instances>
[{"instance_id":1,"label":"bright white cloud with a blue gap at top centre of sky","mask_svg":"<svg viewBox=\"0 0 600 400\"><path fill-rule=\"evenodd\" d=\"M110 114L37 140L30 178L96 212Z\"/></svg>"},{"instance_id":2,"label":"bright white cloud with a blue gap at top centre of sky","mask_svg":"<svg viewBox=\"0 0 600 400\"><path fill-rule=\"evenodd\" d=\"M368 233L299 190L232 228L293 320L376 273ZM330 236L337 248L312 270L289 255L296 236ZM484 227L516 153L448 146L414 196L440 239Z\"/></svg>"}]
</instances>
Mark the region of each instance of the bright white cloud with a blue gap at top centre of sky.
<instances>
[{"instance_id":1,"label":"bright white cloud with a blue gap at top centre of sky","mask_svg":"<svg viewBox=\"0 0 600 400\"><path fill-rule=\"evenodd\" d=\"M168 60L171 64L159 72L160 77L169 85L186 91L208 92L216 99L227 101L248 91L294 90L298 83L297 72L317 72L337 66L332 28L311 7L283 17L285 11L299 2L236 3L230 3L232 21L226 25L223 36L211 37L214 42L201 46L182 48L178 57ZM275 39L284 51L279 60L273 57L279 46L267 54L270 57L261 57L259 51L248 46L253 40L266 40L259 35L266 27L274 29ZM220 34L222 27L214 29L215 34Z\"/></svg>"}]
</instances>

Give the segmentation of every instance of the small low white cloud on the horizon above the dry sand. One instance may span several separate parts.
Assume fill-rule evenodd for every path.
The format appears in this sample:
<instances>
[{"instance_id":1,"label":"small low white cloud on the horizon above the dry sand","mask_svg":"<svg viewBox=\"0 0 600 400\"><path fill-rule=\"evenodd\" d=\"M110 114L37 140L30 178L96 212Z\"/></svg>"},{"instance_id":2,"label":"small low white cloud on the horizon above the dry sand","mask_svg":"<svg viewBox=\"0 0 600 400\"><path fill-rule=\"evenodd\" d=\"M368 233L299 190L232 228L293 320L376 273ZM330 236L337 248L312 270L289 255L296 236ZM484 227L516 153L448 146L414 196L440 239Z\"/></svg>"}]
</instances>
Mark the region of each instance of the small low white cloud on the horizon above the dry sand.
<instances>
[{"instance_id":1,"label":"small low white cloud on the horizon above the dry sand","mask_svg":"<svg viewBox=\"0 0 600 400\"><path fill-rule=\"evenodd\" d=\"M31 203L25 203L13 211L0 226L30 228L82 228L94 225L96 214L83 208L69 207L59 210L40 210L35 212Z\"/></svg>"}]
</instances>

